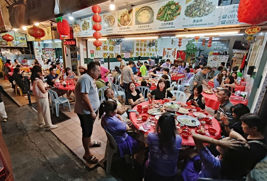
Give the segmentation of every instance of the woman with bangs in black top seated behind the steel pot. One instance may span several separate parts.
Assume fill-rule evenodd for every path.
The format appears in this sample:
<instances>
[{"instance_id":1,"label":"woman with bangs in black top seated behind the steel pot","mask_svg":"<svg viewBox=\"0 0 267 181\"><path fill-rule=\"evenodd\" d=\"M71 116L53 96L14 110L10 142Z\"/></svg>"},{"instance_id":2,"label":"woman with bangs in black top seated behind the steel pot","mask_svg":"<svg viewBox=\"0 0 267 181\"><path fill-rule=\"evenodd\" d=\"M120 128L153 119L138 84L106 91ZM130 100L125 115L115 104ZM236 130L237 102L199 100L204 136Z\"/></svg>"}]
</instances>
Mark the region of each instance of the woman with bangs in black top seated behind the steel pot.
<instances>
[{"instance_id":1,"label":"woman with bangs in black top seated behind the steel pot","mask_svg":"<svg viewBox=\"0 0 267 181\"><path fill-rule=\"evenodd\" d=\"M148 99L151 99L152 96L155 96L155 100L160 100L168 97L170 97L171 101L176 100L176 97L170 91L167 90L166 80L164 79L160 79L158 81L157 88L147 94Z\"/></svg>"}]
</instances>

